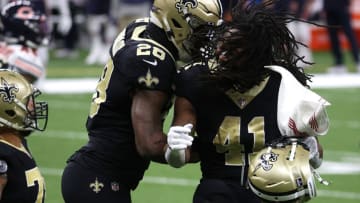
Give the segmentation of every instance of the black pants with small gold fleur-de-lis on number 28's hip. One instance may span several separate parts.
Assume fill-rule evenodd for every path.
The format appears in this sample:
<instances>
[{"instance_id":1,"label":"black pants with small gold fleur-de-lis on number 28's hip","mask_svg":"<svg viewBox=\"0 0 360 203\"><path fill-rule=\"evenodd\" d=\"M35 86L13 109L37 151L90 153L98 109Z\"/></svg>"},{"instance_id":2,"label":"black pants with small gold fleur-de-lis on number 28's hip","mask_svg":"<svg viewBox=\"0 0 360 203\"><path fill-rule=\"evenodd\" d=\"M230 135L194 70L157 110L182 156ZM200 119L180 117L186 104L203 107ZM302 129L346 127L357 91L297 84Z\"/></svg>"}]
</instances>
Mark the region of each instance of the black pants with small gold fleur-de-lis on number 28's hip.
<instances>
[{"instance_id":1,"label":"black pants with small gold fleur-de-lis on number 28's hip","mask_svg":"<svg viewBox=\"0 0 360 203\"><path fill-rule=\"evenodd\" d=\"M130 203L130 190L115 179L71 162L63 172L61 191L65 203Z\"/></svg>"}]
</instances>

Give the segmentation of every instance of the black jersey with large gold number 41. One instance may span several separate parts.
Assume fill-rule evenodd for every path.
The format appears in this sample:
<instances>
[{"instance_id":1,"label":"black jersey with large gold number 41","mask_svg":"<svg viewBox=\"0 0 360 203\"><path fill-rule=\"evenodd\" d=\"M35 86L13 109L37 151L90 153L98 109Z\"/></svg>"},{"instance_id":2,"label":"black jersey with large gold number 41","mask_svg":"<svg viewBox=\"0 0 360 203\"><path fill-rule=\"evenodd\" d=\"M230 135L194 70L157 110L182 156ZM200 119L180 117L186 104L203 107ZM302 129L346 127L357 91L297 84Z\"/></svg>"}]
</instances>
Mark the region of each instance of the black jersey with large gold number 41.
<instances>
[{"instance_id":1,"label":"black jersey with large gold number 41","mask_svg":"<svg viewBox=\"0 0 360 203\"><path fill-rule=\"evenodd\" d=\"M277 127L277 101L281 76L273 73L262 84L241 94L220 91L200 77L207 66L181 70L176 95L187 98L196 109L196 139L205 178L246 182L249 158L265 143L281 137Z\"/></svg>"}]
</instances>

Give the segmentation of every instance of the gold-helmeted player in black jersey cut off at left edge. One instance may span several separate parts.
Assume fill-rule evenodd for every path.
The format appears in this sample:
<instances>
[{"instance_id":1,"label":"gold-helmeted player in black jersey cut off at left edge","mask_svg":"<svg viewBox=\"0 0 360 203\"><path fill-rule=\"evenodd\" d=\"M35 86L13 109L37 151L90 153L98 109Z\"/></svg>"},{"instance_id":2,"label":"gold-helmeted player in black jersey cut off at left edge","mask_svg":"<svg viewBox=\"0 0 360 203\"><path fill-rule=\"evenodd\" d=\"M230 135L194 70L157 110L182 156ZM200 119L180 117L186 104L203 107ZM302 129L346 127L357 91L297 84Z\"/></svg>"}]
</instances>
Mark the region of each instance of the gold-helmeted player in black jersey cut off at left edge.
<instances>
[{"instance_id":1,"label":"gold-helmeted player in black jersey cut off at left edge","mask_svg":"<svg viewBox=\"0 0 360 203\"><path fill-rule=\"evenodd\" d=\"M0 202L44 202L44 178L26 140L46 128L48 105L38 95L20 73L0 70Z\"/></svg>"}]
</instances>

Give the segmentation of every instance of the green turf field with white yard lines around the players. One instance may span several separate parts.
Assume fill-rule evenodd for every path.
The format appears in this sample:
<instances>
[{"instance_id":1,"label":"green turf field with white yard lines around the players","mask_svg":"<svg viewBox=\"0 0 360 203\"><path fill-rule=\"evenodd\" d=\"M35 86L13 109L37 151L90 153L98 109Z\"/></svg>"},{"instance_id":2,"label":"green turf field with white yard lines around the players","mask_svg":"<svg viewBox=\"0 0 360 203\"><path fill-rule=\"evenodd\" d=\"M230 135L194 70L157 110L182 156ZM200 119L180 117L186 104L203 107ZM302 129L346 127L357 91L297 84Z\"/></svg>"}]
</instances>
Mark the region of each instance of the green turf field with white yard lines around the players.
<instances>
[{"instance_id":1,"label":"green turf field with white yard lines around the players","mask_svg":"<svg viewBox=\"0 0 360 203\"><path fill-rule=\"evenodd\" d=\"M316 57L322 61L323 65L319 66L322 70L331 64L327 53L321 53ZM100 70L98 67L86 67L81 61L75 61L74 66L71 66L71 61L64 61L63 65L64 71L60 71L61 61L51 61L49 76L68 77L70 71L73 71L71 73L73 77L94 76ZM360 202L360 88L315 89L315 91L332 104L328 109L331 119L330 131L320 138L325 149L325 162L319 170L322 177L332 184L330 186L317 184L318 197L311 202L358 203ZM49 102L48 128L43 133L34 133L29 137L29 145L45 176L47 203L63 202L60 191L62 169L67 157L87 140L85 121L90 98L91 95L88 93L41 96L41 99ZM133 192L133 202L190 203L199 177L197 164L173 169L153 163L138 189Z\"/></svg>"}]
</instances>

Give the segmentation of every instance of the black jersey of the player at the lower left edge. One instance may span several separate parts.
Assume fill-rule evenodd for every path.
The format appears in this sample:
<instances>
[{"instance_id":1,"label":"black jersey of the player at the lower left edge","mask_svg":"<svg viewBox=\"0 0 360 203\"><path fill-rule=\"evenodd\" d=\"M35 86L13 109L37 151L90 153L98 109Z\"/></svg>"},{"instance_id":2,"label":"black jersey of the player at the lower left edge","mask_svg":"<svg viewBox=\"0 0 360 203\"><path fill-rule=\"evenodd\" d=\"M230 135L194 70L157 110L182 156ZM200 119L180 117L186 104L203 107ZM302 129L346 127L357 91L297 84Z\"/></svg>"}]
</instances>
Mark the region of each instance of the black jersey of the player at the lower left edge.
<instances>
[{"instance_id":1,"label":"black jersey of the player at the lower left edge","mask_svg":"<svg viewBox=\"0 0 360 203\"><path fill-rule=\"evenodd\" d=\"M33 159L26 141L16 147L0 140L0 160L6 162L8 182L1 203L43 203L45 182Z\"/></svg>"}]
</instances>

